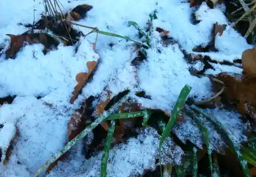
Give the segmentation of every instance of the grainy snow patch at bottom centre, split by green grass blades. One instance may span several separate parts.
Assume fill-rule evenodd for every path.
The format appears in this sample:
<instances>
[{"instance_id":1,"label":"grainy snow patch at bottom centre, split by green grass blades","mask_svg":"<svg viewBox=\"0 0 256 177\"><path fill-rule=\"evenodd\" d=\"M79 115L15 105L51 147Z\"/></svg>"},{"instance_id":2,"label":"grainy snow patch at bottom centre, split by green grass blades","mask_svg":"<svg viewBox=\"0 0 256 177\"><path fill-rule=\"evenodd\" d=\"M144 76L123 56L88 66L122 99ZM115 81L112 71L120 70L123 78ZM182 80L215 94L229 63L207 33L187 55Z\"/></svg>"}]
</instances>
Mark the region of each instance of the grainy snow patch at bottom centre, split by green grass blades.
<instances>
[{"instance_id":1,"label":"grainy snow patch at bottom centre, split by green grass blades","mask_svg":"<svg viewBox=\"0 0 256 177\"><path fill-rule=\"evenodd\" d=\"M159 140L160 136L156 130L150 127L140 131L137 139L131 138L127 144L115 146L109 153L108 176L137 176L143 174L144 169L155 169L156 158L159 156ZM165 141L163 147L166 149L164 153L175 153L172 157L169 156L168 162L180 164L183 154L181 148L175 146L172 141ZM169 148L173 151L168 152ZM76 150L77 154L71 161L60 163L58 168L53 169L47 176L100 176L102 152L84 160L84 157L78 154L79 149Z\"/></svg>"}]
</instances>

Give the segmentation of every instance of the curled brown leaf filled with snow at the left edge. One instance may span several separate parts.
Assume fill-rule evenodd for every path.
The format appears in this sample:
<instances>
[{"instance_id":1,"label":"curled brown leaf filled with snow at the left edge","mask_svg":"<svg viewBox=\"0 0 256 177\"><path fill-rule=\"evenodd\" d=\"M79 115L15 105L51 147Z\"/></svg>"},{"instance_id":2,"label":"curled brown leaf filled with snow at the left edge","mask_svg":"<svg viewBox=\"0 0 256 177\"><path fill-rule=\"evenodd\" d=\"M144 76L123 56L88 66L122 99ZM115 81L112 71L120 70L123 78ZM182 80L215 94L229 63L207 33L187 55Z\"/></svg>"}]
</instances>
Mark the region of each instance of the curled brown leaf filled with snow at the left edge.
<instances>
[{"instance_id":1,"label":"curled brown leaf filled with snow at the left edge","mask_svg":"<svg viewBox=\"0 0 256 177\"><path fill-rule=\"evenodd\" d=\"M16 125L12 123L0 124L0 162L3 162L4 165L10 159L13 143L17 135L18 129Z\"/></svg>"}]
</instances>

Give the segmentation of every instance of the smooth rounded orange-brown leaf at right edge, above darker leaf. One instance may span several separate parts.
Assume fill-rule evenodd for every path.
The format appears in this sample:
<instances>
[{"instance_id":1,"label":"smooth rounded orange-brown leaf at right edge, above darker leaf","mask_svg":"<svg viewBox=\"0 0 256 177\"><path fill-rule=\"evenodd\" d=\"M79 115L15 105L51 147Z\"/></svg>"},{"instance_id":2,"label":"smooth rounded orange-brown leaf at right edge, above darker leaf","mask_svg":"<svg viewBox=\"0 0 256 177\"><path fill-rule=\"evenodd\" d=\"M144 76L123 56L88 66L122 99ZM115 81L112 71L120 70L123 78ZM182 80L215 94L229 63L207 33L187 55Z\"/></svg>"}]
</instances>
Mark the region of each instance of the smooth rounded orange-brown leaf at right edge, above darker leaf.
<instances>
[{"instance_id":1,"label":"smooth rounded orange-brown leaf at right edge, above darker leaf","mask_svg":"<svg viewBox=\"0 0 256 177\"><path fill-rule=\"evenodd\" d=\"M247 49L242 54L243 74L247 77L256 76L256 48Z\"/></svg>"}]
</instances>

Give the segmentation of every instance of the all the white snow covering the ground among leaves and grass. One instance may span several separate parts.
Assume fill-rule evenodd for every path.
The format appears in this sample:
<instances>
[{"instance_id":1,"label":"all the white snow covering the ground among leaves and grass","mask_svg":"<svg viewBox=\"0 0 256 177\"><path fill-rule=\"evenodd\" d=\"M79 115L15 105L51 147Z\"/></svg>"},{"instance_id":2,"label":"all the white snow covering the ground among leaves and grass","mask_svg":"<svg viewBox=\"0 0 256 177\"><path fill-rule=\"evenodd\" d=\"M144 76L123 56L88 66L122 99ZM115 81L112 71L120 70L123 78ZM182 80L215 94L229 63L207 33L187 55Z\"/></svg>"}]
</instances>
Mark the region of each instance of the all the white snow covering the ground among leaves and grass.
<instances>
[{"instance_id":1,"label":"all the white snow covering the ground among leaves and grass","mask_svg":"<svg viewBox=\"0 0 256 177\"><path fill-rule=\"evenodd\" d=\"M69 3L70 2L70 3ZM40 18L44 11L41 1L4 1L1 3L0 16L0 43L9 43L5 34L21 34L27 29L18 23L33 22L33 7L35 20ZM66 11L84 1L61 1ZM71 114L78 107L81 98L100 94L108 85L113 94L124 89L132 92L143 89L152 100L136 99L145 107L161 108L170 112L177 97L185 84L193 87L190 96L198 100L211 96L210 81L203 77L191 76L188 69L191 67L181 52L181 48L188 53L208 55L217 61L224 59L232 62L240 58L242 52L251 48L246 40L230 26L222 36L216 37L216 48L219 52L197 53L192 49L196 46L206 46L210 40L212 26L227 24L228 20L222 8L209 9L205 4L197 10L196 16L201 22L193 25L190 22L194 9L187 2L181 0L141 0L141 1L86 1L93 6L88 12L88 17L78 21L81 25L98 27L102 31L117 33L123 36L140 40L137 30L128 27L129 20L135 21L141 28L146 26L148 14L154 10L158 19L153 22L153 27L161 27L170 31L178 44L162 46L160 36L153 32L151 36L152 47L147 50L147 62L140 65L137 74L138 81L130 62L136 56L135 47L131 41L99 35L96 53L92 50L91 43L95 35L81 38L81 45L75 54L75 47L59 46L58 50L43 55L41 45L26 46L17 55L15 60L0 60L0 97L17 95L12 104L0 107L0 124L17 125L19 135L14 144L14 149L6 167L0 165L0 176L32 176L67 141L67 126ZM11 13L9 13L11 12ZM6 15L8 13L8 15ZM78 27L75 27L78 28ZM78 28L84 34L88 29ZM109 43L115 43L113 47ZM76 84L75 76L79 72L87 72L86 62L100 58L100 65L92 82L83 89L83 95L75 104L71 105L69 99ZM218 74L222 71L241 73L241 69L234 66L224 67L213 64L215 71L206 71ZM199 70L202 65L196 63L194 68ZM36 99L37 96L42 98ZM53 106L45 103L53 104ZM241 142L244 125L236 113L225 110L207 110L208 114L221 121L232 132L234 139ZM6 127L4 127L6 128ZM220 136L209 125L210 145L218 148L223 142ZM149 130L148 130L149 131ZM198 128L191 119L186 118L173 130L181 140L190 140L199 147L201 138ZM0 131L0 145L5 146L12 128ZM3 135L4 134L4 135ZM4 137L4 139L2 138ZM11 136L9 136L11 137ZM132 138L127 144L115 146L110 151L108 176L130 176L142 174L144 169L156 167L157 147L159 136L154 130L143 132L137 139ZM179 164L183 151L173 146L169 140L165 142L165 160ZM164 149L163 148L163 149ZM168 151L171 149L171 151ZM61 162L48 176L99 176L101 152L89 160L76 151L71 159Z\"/></svg>"}]
</instances>

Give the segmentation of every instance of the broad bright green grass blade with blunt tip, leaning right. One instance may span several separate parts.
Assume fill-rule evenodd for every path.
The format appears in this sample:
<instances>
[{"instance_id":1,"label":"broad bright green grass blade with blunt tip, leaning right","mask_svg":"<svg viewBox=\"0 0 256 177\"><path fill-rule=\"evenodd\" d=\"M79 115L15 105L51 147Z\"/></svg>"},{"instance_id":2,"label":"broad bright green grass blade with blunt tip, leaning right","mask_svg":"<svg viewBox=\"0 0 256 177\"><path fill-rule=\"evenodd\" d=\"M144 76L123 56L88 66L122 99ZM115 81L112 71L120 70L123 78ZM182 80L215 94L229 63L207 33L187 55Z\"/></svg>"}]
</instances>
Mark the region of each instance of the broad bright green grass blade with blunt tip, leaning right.
<instances>
[{"instance_id":1,"label":"broad bright green grass blade with blunt tip, leaning right","mask_svg":"<svg viewBox=\"0 0 256 177\"><path fill-rule=\"evenodd\" d=\"M162 144L163 144L165 138L169 135L170 130L175 125L176 120L177 120L177 116L180 113L180 110L182 109L183 105L185 104L186 98L187 98L189 92L191 91L191 89L192 88L190 86L185 85L183 87L183 89L181 90L180 95L178 97L178 100L177 100L177 102L176 102L176 104L174 106L174 110L172 112L172 115L171 115L171 117L170 117L170 119L169 119L169 121L168 121L168 123L166 125L166 128L164 129L164 132L162 134L161 140L159 142L159 147L158 147L159 150L161 149Z\"/></svg>"}]
</instances>

